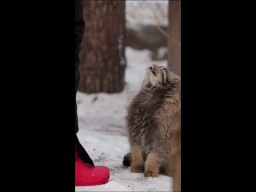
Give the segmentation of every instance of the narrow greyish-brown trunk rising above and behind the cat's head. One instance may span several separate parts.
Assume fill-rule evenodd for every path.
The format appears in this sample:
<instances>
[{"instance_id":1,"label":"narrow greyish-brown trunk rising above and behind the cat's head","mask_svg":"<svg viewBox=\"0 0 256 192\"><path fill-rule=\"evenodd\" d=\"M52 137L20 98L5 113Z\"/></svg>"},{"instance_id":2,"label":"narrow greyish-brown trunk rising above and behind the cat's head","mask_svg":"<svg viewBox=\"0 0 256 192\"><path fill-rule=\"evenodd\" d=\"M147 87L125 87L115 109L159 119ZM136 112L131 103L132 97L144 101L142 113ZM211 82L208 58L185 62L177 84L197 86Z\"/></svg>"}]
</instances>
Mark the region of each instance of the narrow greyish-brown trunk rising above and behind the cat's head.
<instances>
[{"instance_id":1,"label":"narrow greyish-brown trunk rising above and behind the cat's head","mask_svg":"<svg viewBox=\"0 0 256 192\"><path fill-rule=\"evenodd\" d=\"M168 68L181 76L181 1L169 1Z\"/></svg>"}]
</instances>

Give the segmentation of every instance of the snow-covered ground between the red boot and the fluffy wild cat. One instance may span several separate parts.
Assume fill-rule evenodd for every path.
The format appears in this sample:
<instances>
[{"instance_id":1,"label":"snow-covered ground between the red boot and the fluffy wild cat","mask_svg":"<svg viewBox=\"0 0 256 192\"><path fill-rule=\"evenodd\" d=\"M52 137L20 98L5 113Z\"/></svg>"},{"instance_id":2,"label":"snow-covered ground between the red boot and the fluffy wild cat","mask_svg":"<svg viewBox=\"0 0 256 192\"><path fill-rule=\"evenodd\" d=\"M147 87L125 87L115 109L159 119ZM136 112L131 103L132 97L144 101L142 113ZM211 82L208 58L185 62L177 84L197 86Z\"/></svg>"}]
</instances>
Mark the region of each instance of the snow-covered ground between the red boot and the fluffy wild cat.
<instances>
[{"instance_id":1,"label":"snow-covered ground between the red boot and the fluffy wild cat","mask_svg":"<svg viewBox=\"0 0 256 192\"><path fill-rule=\"evenodd\" d=\"M170 177L145 178L122 166L130 146L126 134L126 106L141 86L147 66L166 66L152 61L150 51L126 47L126 89L121 94L78 92L78 138L96 166L108 166L110 181L102 186L76 186L76 191L171 191Z\"/></svg>"}]
</instances>

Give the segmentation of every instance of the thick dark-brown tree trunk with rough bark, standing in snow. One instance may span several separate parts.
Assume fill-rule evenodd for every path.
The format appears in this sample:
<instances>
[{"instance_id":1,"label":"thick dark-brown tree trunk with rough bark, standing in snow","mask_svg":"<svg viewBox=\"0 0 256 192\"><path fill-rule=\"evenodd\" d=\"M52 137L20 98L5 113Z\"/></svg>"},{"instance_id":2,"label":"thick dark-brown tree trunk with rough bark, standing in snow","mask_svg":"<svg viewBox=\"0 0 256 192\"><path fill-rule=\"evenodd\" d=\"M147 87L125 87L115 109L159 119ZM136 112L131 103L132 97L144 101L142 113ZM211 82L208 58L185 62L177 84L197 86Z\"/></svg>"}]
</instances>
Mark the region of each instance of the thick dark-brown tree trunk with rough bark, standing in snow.
<instances>
[{"instance_id":1,"label":"thick dark-brown tree trunk with rough bark, standing in snow","mask_svg":"<svg viewBox=\"0 0 256 192\"><path fill-rule=\"evenodd\" d=\"M84 0L81 79L85 93L118 93L125 86L125 1Z\"/></svg>"}]
</instances>

